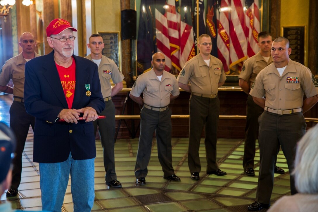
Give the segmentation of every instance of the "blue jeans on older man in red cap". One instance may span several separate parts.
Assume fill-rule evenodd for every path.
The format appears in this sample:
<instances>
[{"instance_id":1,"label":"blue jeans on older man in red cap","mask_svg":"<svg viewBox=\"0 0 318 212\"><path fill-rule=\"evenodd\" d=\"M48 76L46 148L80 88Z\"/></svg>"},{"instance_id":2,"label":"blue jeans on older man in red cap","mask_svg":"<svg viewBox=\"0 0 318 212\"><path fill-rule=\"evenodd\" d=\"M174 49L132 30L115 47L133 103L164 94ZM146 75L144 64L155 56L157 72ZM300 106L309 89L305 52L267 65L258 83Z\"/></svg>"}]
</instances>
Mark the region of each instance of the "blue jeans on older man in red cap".
<instances>
[{"instance_id":1,"label":"blue jeans on older man in red cap","mask_svg":"<svg viewBox=\"0 0 318 212\"><path fill-rule=\"evenodd\" d=\"M94 160L74 160L70 153L61 163L39 163L42 210L60 212L69 175L74 212L89 212L94 203Z\"/></svg>"}]
</instances>

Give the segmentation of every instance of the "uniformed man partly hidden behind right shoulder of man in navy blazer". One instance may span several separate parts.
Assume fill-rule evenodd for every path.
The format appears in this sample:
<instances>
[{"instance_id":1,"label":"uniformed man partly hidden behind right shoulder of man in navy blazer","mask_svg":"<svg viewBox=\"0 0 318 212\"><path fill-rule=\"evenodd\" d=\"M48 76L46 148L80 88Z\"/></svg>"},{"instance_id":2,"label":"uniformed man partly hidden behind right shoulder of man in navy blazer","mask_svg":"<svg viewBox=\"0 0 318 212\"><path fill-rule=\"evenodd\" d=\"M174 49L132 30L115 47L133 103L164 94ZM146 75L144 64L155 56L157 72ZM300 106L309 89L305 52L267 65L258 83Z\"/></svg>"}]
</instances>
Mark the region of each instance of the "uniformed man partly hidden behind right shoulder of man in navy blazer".
<instances>
[{"instance_id":1,"label":"uniformed man partly hidden behind right shoulder of man in navy blazer","mask_svg":"<svg viewBox=\"0 0 318 212\"><path fill-rule=\"evenodd\" d=\"M117 180L115 171L115 105L112 97L122 88L124 76L119 72L114 60L102 55L104 48L103 38L99 34L92 34L89 38L88 48L91 53L85 58L92 60L98 66L98 75L100 78L101 93L105 101L105 109L100 113L106 116L105 119L97 119L94 124L94 135L96 135L97 125L100 133L100 141L103 146L103 158L105 168L105 181L108 186L120 188L121 183ZM114 82L112 87L110 80Z\"/></svg>"}]
</instances>

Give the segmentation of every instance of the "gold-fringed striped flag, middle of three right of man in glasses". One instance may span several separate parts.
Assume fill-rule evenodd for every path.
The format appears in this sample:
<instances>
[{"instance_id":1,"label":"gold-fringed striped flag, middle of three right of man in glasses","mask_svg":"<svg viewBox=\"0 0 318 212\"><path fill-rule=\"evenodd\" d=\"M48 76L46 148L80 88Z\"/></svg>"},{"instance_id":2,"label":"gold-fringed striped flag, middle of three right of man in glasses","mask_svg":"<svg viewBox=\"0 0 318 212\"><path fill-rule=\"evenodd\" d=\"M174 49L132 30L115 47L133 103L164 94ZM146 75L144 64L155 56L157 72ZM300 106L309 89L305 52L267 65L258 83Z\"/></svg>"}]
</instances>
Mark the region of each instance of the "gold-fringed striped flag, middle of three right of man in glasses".
<instances>
[{"instance_id":1,"label":"gold-fringed striped flag, middle of three right of man in glasses","mask_svg":"<svg viewBox=\"0 0 318 212\"><path fill-rule=\"evenodd\" d=\"M230 69L232 70L236 70L234 66L247 59L247 26L243 5L243 0L231 0Z\"/></svg>"}]
</instances>

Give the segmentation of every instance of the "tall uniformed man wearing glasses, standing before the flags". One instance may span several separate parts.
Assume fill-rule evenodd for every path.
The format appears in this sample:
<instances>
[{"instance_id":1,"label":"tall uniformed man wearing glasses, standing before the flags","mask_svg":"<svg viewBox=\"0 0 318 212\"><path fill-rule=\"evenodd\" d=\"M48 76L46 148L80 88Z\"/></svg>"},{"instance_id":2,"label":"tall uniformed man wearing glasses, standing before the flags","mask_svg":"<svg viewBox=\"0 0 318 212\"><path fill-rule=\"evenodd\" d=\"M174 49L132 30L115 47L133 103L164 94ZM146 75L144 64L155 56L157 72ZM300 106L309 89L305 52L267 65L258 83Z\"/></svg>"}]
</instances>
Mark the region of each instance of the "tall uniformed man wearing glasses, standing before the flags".
<instances>
[{"instance_id":1,"label":"tall uniformed man wearing glasses, standing before the flags","mask_svg":"<svg viewBox=\"0 0 318 212\"><path fill-rule=\"evenodd\" d=\"M199 37L200 53L186 62L177 81L179 87L190 92L189 114L189 152L188 165L191 179L199 180L201 171L199 147L203 127L205 127L205 154L207 174L225 175L216 162L216 144L220 100L218 87L225 82L226 76L222 62L210 55L211 37L203 34Z\"/></svg>"}]
</instances>

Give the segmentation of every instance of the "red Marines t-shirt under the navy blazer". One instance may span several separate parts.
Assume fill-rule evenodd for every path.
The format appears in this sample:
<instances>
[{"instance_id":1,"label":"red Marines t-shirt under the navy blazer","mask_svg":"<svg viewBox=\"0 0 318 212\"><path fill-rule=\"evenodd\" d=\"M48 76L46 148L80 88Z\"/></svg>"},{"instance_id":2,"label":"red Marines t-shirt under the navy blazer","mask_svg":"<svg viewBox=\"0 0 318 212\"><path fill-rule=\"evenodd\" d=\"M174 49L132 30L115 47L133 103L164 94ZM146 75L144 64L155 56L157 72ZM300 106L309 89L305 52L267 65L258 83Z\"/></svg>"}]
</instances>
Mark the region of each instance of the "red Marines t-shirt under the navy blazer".
<instances>
[{"instance_id":1,"label":"red Marines t-shirt under the navy blazer","mask_svg":"<svg viewBox=\"0 0 318 212\"><path fill-rule=\"evenodd\" d=\"M74 93L75 93L75 60L72 57L73 62L70 67L59 66L55 63L56 68L59 72L59 77L61 80L62 88L68 104L68 109L72 109Z\"/></svg>"}]
</instances>

